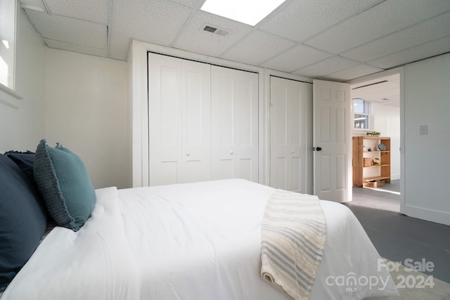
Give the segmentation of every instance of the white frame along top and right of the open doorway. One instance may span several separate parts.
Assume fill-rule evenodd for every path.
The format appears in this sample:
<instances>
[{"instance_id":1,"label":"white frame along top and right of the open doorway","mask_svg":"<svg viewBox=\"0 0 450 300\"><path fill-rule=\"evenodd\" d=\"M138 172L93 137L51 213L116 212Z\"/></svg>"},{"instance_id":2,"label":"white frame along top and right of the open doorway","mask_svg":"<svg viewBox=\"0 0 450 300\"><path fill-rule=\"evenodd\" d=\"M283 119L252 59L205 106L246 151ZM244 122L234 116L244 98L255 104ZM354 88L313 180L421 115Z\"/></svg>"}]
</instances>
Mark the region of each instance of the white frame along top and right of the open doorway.
<instances>
[{"instance_id":1,"label":"white frame along top and right of the open doorway","mask_svg":"<svg viewBox=\"0 0 450 300\"><path fill-rule=\"evenodd\" d=\"M404 98L404 67L396 67L391 70L386 70L383 72L378 72L375 74L367 75L364 77L359 77L357 79L347 81L348 84L358 84L362 81L368 81L371 79L377 79L378 77L383 77L392 74L400 75L400 213L405 213L405 191L406 191L406 178L405 178L405 98Z\"/></svg>"}]
</instances>

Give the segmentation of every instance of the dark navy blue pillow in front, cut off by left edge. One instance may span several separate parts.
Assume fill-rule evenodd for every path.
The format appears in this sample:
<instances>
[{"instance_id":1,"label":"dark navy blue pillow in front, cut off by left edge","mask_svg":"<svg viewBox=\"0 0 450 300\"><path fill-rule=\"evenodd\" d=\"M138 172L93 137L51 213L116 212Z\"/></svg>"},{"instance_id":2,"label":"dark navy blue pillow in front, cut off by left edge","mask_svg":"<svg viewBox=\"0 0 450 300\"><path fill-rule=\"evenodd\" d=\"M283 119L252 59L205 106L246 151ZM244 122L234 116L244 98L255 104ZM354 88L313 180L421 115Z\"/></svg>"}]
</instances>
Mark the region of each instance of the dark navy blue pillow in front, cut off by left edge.
<instances>
[{"instance_id":1,"label":"dark navy blue pillow in front, cut off by left edge","mask_svg":"<svg viewBox=\"0 0 450 300\"><path fill-rule=\"evenodd\" d=\"M11 159L0 154L0 292L30 259L46 226L39 192Z\"/></svg>"}]
</instances>

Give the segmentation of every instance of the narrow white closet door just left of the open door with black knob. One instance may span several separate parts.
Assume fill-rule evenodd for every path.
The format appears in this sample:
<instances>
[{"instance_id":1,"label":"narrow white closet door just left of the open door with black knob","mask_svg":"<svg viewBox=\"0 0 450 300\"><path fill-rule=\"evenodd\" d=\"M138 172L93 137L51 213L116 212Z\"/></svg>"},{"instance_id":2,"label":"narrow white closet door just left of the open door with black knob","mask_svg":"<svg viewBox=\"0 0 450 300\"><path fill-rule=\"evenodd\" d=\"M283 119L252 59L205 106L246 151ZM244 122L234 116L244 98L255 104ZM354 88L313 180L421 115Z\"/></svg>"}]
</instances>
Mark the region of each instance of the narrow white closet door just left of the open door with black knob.
<instances>
[{"instance_id":1,"label":"narrow white closet door just left of the open door with black knob","mask_svg":"<svg viewBox=\"0 0 450 300\"><path fill-rule=\"evenodd\" d=\"M283 190L311 193L307 120L312 86L279 77L270 80L270 184Z\"/></svg>"}]
</instances>

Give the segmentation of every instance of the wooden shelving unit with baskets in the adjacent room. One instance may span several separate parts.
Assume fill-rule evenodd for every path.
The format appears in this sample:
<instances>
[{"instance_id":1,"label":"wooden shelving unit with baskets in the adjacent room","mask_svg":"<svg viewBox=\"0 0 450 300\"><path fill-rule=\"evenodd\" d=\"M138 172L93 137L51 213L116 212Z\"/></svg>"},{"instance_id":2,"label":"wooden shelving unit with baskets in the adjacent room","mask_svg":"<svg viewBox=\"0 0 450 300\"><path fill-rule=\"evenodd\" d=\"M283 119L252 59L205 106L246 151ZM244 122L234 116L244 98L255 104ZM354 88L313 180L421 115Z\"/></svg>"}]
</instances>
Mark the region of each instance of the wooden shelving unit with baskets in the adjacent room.
<instances>
[{"instance_id":1,"label":"wooden shelving unit with baskets in the adjacent room","mask_svg":"<svg viewBox=\"0 0 450 300\"><path fill-rule=\"evenodd\" d=\"M378 145L383 143L385 151L380 151ZM368 151L371 148L372 151ZM364 167L364 158L379 158L380 164ZM353 186L362 188L370 181L384 180L391 182L391 138L385 136L354 136L353 137Z\"/></svg>"}]
</instances>

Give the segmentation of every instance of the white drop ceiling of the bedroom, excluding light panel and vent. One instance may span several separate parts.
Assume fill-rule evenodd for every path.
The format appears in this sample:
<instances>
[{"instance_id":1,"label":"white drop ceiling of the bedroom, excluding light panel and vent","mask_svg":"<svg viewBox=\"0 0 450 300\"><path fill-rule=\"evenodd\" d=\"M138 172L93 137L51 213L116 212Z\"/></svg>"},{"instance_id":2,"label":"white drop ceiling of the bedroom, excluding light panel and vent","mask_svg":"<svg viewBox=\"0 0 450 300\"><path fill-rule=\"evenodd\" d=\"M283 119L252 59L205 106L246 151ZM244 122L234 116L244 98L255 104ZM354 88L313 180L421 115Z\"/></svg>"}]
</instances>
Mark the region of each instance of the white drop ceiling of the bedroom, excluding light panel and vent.
<instances>
[{"instance_id":1,"label":"white drop ceiling of the bedroom, excluding light panel and vent","mask_svg":"<svg viewBox=\"0 0 450 300\"><path fill-rule=\"evenodd\" d=\"M201 11L203 2L20 0L49 48L116 60L127 60L131 39L138 39L349 81L450 52L449 0L286 0L255 27Z\"/></svg>"}]
</instances>

